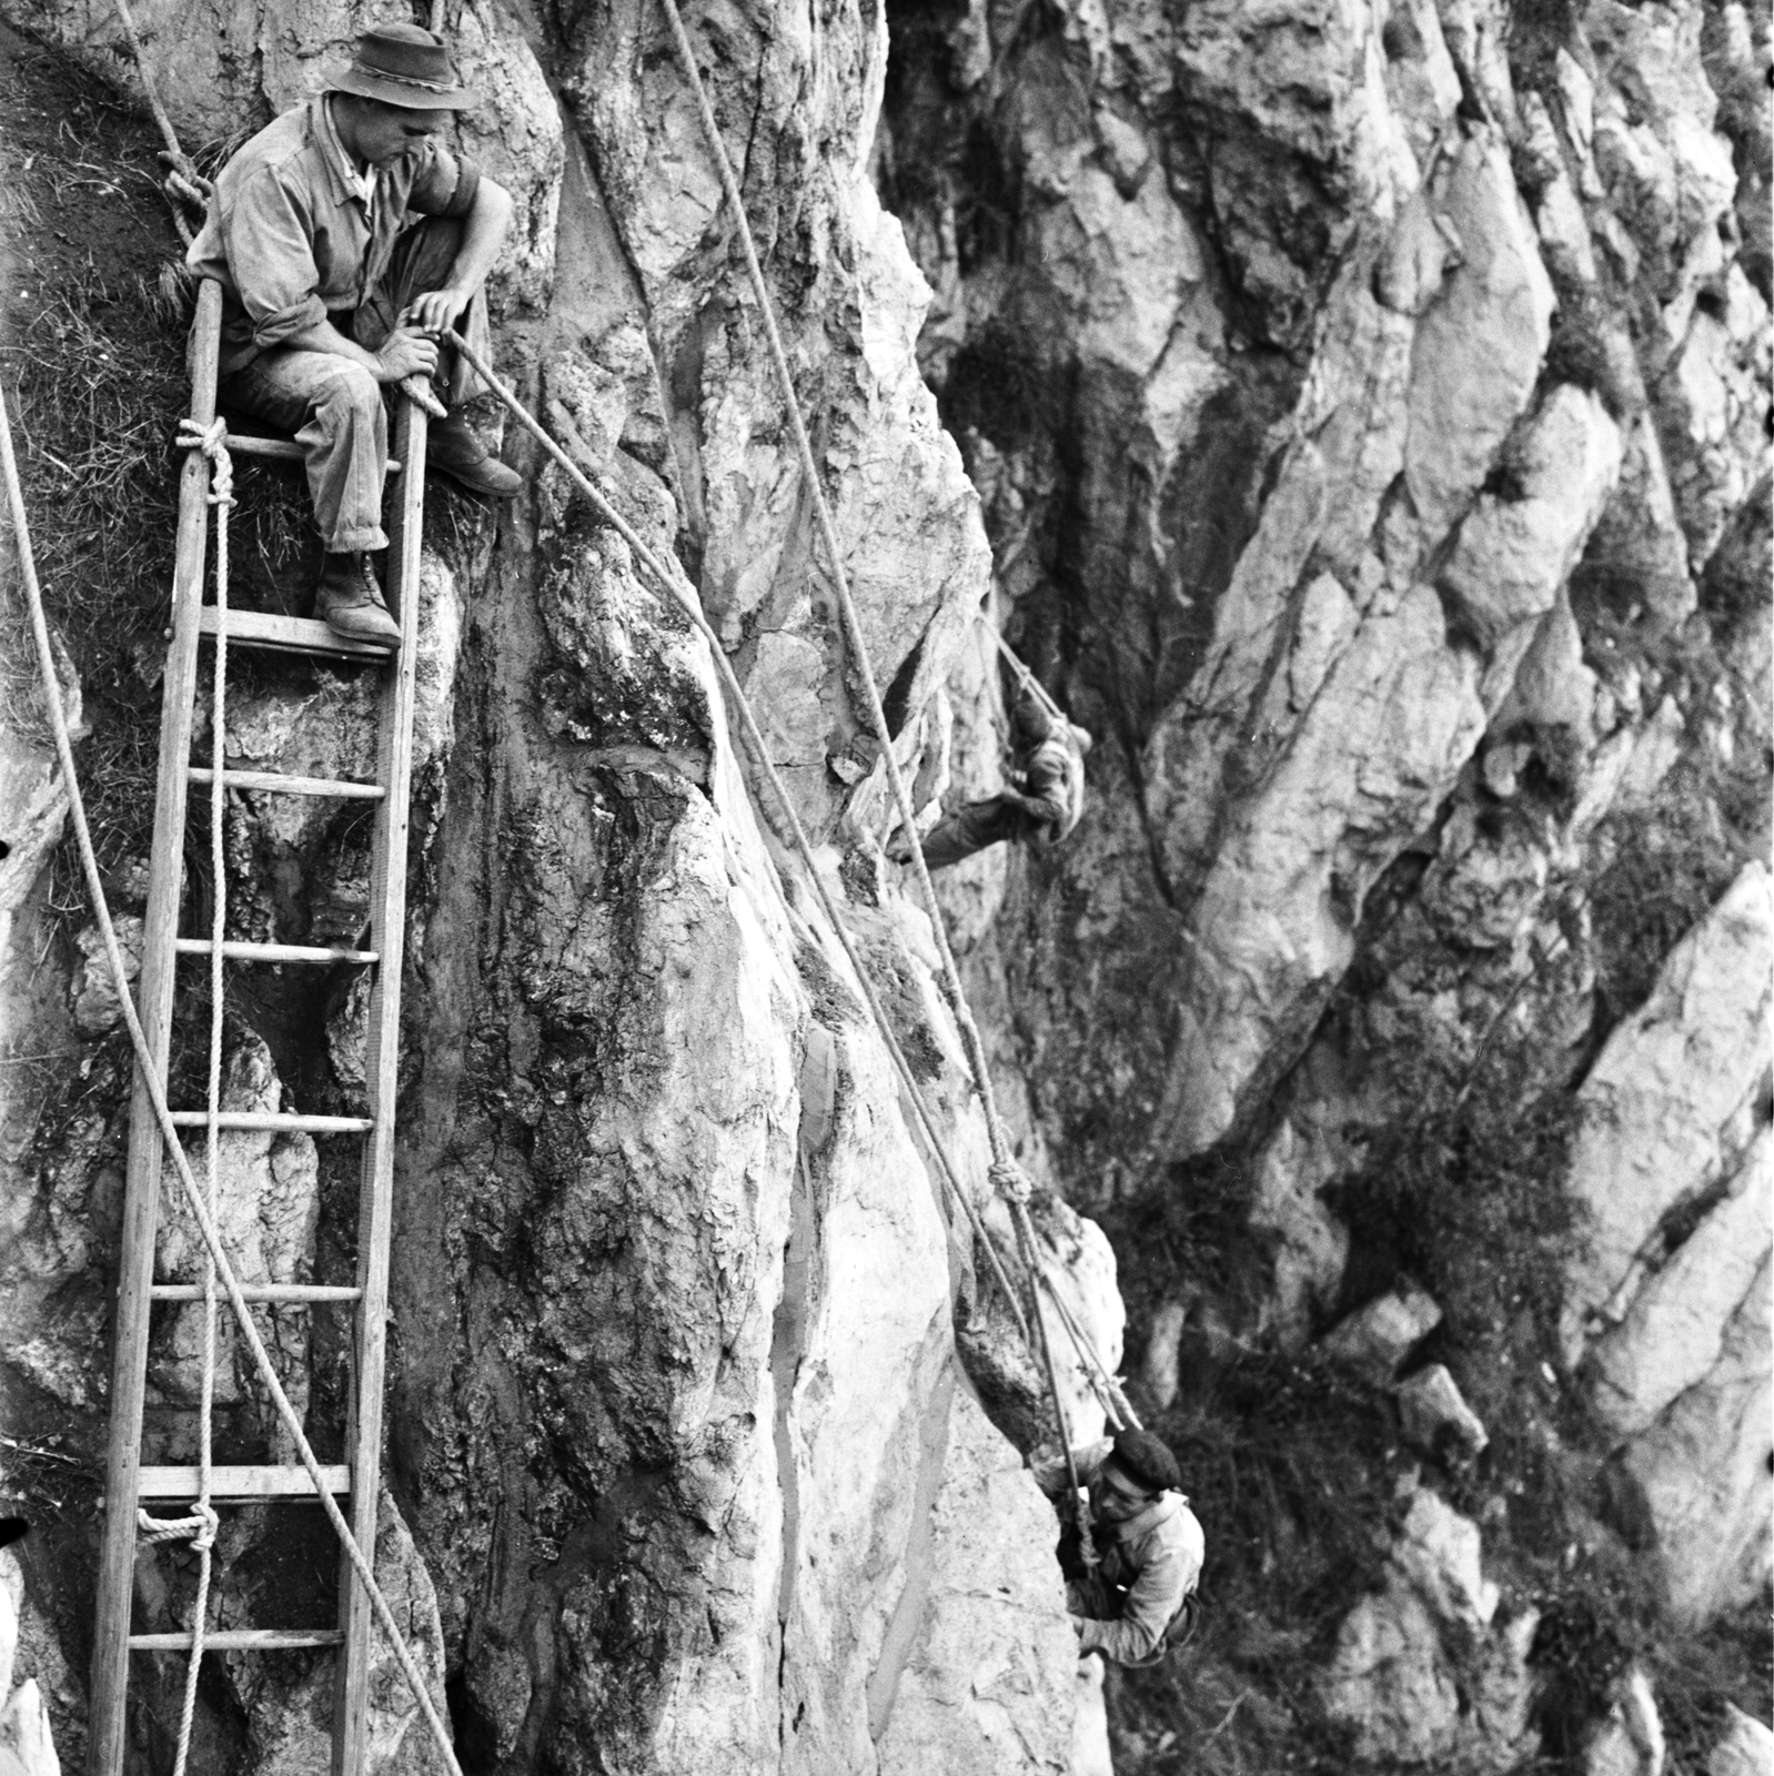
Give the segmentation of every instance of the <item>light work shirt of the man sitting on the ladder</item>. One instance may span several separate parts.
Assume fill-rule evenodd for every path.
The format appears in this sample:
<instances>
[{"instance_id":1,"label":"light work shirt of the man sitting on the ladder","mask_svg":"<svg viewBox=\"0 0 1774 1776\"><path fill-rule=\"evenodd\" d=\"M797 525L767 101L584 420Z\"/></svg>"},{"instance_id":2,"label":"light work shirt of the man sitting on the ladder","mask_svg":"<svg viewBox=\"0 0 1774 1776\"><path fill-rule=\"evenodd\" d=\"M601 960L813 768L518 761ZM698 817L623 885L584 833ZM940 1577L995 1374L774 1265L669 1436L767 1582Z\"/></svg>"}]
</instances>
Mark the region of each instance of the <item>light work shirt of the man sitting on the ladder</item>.
<instances>
[{"instance_id":1,"label":"light work shirt of the man sitting on the ladder","mask_svg":"<svg viewBox=\"0 0 1774 1776\"><path fill-rule=\"evenodd\" d=\"M479 167L437 137L391 167L357 170L330 96L266 124L222 169L185 263L222 286L222 375L362 305L419 217L465 217Z\"/></svg>"}]
</instances>

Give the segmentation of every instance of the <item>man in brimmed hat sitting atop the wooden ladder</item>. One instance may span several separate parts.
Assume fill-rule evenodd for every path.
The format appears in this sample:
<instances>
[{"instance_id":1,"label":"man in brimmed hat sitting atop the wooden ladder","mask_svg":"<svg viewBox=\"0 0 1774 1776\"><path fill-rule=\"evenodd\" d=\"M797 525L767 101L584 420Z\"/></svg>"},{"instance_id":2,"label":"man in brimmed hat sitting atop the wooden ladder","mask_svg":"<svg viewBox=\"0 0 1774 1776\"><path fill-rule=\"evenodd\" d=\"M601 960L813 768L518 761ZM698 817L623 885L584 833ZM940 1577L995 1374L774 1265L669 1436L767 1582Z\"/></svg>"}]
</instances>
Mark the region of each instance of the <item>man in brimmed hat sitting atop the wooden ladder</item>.
<instances>
[{"instance_id":1,"label":"man in brimmed hat sitting atop the wooden ladder","mask_svg":"<svg viewBox=\"0 0 1774 1776\"><path fill-rule=\"evenodd\" d=\"M229 160L186 258L224 291L217 394L304 448L327 551L314 614L359 641L400 643L369 563L387 549L382 391L440 371L453 401L469 392L447 337L465 318L485 337L481 284L511 224L510 192L439 140L474 103L432 32L368 32ZM455 412L426 462L495 499L524 485Z\"/></svg>"}]
</instances>

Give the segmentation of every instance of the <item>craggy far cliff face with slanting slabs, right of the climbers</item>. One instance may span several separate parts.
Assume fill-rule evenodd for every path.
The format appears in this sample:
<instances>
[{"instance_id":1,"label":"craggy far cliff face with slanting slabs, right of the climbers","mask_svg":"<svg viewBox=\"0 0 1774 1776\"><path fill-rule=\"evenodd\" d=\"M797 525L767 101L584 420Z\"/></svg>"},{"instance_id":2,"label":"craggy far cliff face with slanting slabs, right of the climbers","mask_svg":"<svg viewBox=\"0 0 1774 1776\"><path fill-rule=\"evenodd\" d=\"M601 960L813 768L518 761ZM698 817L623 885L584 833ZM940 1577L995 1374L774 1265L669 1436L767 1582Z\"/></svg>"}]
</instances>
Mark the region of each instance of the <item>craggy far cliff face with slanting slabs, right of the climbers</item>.
<instances>
[{"instance_id":1,"label":"craggy far cliff face with slanting slabs, right of the climbers","mask_svg":"<svg viewBox=\"0 0 1774 1776\"><path fill-rule=\"evenodd\" d=\"M1117 1753L1588 1756L1769 1572L1767 20L893 27L925 373L1103 742L1074 842L954 906L1261 1549Z\"/></svg>"}]
</instances>

